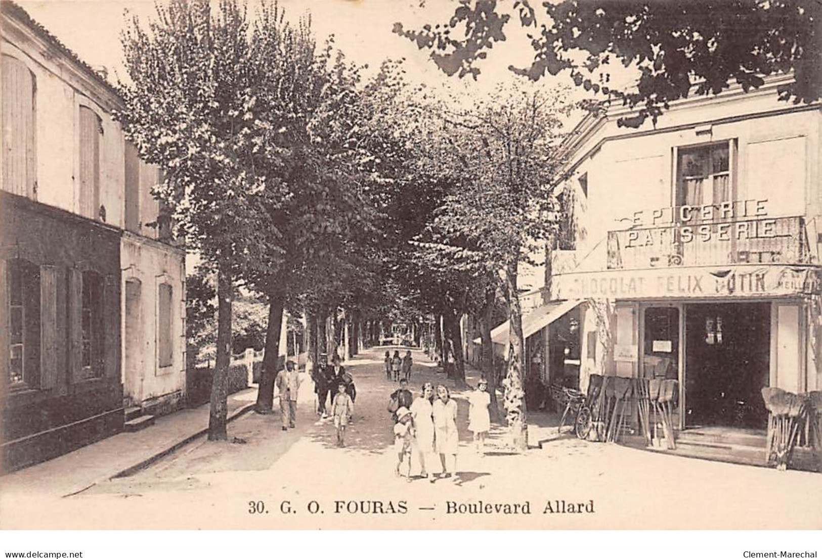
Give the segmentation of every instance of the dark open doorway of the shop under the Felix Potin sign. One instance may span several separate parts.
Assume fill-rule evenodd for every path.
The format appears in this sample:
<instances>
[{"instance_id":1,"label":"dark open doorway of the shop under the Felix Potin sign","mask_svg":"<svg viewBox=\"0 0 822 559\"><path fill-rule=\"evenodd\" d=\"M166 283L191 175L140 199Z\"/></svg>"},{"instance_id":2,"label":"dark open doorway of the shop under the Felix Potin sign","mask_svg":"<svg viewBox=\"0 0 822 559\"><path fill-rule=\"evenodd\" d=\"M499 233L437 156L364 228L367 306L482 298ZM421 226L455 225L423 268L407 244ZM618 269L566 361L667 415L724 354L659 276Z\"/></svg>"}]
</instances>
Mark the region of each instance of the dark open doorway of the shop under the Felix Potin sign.
<instances>
[{"instance_id":1,"label":"dark open doorway of the shop under the Felix Potin sign","mask_svg":"<svg viewBox=\"0 0 822 559\"><path fill-rule=\"evenodd\" d=\"M769 303L686 305L686 426L764 429Z\"/></svg>"}]
</instances>

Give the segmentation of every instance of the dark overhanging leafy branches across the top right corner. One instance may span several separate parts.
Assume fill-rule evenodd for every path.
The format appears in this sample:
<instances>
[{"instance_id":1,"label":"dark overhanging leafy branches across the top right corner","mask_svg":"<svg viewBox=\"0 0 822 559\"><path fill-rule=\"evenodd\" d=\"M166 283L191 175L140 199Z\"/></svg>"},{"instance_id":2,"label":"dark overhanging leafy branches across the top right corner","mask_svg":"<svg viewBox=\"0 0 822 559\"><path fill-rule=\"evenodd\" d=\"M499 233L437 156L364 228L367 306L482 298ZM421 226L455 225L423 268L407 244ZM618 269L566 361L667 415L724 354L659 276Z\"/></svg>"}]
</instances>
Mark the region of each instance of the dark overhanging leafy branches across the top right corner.
<instances>
[{"instance_id":1,"label":"dark overhanging leafy branches across the top right corner","mask_svg":"<svg viewBox=\"0 0 822 559\"><path fill-rule=\"evenodd\" d=\"M432 50L446 74L476 78L476 62L506 40L515 18L534 57L529 67L510 69L531 80L569 71L576 85L637 108L623 126L655 122L689 94L718 94L734 82L747 91L775 73L794 76L779 99L810 103L822 96L818 0L562 0L543 2L542 10L518 0L513 7L510 13L496 0L461 0L447 23L422 30L397 23L395 33ZM635 86L610 82L608 65L617 63L639 71Z\"/></svg>"}]
</instances>

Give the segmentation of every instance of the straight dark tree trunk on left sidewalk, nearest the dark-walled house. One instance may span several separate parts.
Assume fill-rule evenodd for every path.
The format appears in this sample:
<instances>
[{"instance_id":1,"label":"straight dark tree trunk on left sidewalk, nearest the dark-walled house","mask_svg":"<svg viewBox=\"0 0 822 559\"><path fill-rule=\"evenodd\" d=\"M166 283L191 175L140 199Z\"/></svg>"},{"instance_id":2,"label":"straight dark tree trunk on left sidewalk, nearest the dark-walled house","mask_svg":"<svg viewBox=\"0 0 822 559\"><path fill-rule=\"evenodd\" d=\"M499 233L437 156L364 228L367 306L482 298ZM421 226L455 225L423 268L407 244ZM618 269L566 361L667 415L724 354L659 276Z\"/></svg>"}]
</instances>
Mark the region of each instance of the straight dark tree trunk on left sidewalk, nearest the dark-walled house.
<instances>
[{"instance_id":1,"label":"straight dark tree trunk on left sidewalk, nearest the dark-walled house","mask_svg":"<svg viewBox=\"0 0 822 559\"><path fill-rule=\"evenodd\" d=\"M231 364L231 300L233 297L231 264L221 260L217 267L217 359L211 381L211 408L208 418L208 440L228 438L225 424L229 415L226 383Z\"/></svg>"}]
</instances>

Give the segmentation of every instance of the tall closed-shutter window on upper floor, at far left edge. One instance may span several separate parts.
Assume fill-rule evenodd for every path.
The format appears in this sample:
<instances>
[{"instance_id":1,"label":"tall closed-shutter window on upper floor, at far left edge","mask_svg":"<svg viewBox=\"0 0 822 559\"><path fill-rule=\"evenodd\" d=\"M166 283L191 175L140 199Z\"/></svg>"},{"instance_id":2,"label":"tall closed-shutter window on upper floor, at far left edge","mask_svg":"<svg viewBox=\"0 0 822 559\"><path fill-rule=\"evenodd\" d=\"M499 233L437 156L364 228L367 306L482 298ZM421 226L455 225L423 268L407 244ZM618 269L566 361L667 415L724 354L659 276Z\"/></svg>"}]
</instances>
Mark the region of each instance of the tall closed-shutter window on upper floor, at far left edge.
<instances>
[{"instance_id":1,"label":"tall closed-shutter window on upper floor, at far left edge","mask_svg":"<svg viewBox=\"0 0 822 559\"><path fill-rule=\"evenodd\" d=\"M35 197L34 74L23 62L2 55L2 188Z\"/></svg>"}]
</instances>

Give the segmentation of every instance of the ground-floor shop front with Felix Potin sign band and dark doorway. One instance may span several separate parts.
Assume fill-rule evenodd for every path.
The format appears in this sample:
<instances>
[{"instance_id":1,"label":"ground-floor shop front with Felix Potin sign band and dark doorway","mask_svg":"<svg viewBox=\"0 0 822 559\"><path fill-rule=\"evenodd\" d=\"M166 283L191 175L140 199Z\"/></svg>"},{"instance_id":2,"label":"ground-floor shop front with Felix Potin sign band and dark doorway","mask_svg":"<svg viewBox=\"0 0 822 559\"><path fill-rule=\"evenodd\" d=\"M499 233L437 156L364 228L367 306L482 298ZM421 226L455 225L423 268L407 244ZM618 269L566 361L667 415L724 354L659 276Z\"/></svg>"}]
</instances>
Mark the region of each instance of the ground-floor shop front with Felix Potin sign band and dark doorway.
<instances>
[{"instance_id":1,"label":"ground-floor shop front with Felix Potin sign band and dark doorway","mask_svg":"<svg viewBox=\"0 0 822 559\"><path fill-rule=\"evenodd\" d=\"M741 437L761 448L769 422L762 389L819 389L818 267L568 273L553 278L552 297L586 301L580 389L591 375L676 382L668 406L686 444L698 434L731 450ZM639 424L635 416L635 433Z\"/></svg>"}]
</instances>

